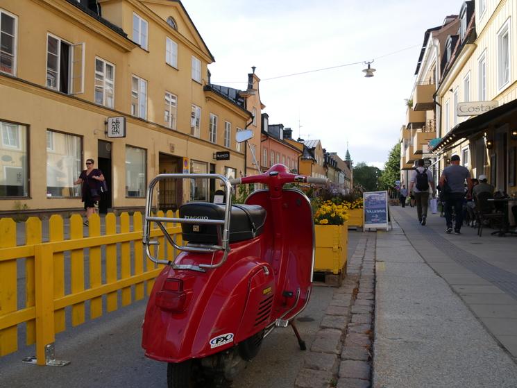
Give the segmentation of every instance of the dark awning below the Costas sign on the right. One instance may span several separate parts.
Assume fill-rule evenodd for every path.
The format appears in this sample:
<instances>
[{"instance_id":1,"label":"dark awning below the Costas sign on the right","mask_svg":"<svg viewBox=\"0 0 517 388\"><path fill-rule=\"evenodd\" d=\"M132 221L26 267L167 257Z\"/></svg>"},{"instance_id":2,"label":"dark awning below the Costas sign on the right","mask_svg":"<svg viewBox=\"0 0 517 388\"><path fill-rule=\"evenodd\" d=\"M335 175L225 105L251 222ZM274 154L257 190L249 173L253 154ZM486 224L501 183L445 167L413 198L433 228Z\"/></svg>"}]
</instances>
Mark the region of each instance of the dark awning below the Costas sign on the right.
<instances>
[{"instance_id":1,"label":"dark awning below the Costas sign on the right","mask_svg":"<svg viewBox=\"0 0 517 388\"><path fill-rule=\"evenodd\" d=\"M446 133L446 135L441 137L439 142L432 147L432 151L441 153L460 140L464 140L468 136L486 130L487 126L495 124L493 121L504 121L508 116L514 114L517 114L517 100L510 101L502 106L498 106L498 108L489 110L489 112L459 123Z\"/></svg>"}]
</instances>

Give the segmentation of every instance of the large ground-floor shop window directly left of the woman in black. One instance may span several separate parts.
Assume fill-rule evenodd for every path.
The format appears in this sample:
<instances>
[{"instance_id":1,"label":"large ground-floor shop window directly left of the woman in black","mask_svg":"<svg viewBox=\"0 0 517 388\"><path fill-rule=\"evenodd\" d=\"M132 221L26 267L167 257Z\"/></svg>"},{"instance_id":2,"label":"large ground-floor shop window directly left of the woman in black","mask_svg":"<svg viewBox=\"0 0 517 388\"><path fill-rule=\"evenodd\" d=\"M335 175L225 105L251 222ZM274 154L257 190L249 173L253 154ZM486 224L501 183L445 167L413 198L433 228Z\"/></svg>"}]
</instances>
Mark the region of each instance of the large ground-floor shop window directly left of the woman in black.
<instances>
[{"instance_id":1,"label":"large ground-floor shop window directly left of the woman in black","mask_svg":"<svg viewBox=\"0 0 517 388\"><path fill-rule=\"evenodd\" d=\"M82 167L81 137L47 130L46 144L47 198L80 196L80 185L74 185L74 181Z\"/></svg>"}]
</instances>

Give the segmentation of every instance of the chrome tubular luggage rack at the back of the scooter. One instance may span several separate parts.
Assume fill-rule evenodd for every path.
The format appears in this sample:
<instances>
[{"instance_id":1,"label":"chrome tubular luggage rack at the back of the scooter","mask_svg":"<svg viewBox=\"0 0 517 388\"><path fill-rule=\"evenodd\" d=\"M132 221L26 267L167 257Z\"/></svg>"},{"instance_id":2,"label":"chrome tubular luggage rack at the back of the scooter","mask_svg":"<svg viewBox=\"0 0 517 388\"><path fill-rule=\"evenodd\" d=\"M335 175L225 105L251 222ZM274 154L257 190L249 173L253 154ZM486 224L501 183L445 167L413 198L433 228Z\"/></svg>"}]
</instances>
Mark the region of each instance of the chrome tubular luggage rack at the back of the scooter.
<instances>
[{"instance_id":1,"label":"chrome tubular luggage rack at the back of the scooter","mask_svg":"<svg viewBox=\"0 0 517 388\"><path fill-rule=\"evenodd\" d=\"M152 214L152 203L153 203L153 189L160 180L165 179L219 179L221 180L221 186L226 187L225 192L225 209L224 209L224 219L186 219L186 218L176 218L176 217L155 217ZM213 269L217 267L221 267L221 265L226 262L228 258L228 253L230 252L230 209L232 208L232 183L226 176L220 174L160 174L156 176L151 183L149 183L149 187L147 189L146 196L146 209L144 214L144 233L142 235L142 244L144 244L145 252L149 260L155 262L157 264L169 264L175 269L190 269L193 271L201 271L205 272L206 269ZM156 248L155 256L151 253L151 246L159 246L160 242L157 240L151 240L151 222L155 222L158 228L162 230L164 237L167 241L176 249L185 252L192 253L212 253L212 258L214 257L217 251L223 251L223 258L221 261L214 264L176 264L176 262L170 262L169 260L160 260L158 259L158 248ZM164 226L164 223L194 223L196 225L216 225L217 226L217 237L218 244L187 244L187 245L178 245L173 240L169 232L167 232L167 228ZM222 231L221 231L222 230Z\"/></svg>"}]
</instances>

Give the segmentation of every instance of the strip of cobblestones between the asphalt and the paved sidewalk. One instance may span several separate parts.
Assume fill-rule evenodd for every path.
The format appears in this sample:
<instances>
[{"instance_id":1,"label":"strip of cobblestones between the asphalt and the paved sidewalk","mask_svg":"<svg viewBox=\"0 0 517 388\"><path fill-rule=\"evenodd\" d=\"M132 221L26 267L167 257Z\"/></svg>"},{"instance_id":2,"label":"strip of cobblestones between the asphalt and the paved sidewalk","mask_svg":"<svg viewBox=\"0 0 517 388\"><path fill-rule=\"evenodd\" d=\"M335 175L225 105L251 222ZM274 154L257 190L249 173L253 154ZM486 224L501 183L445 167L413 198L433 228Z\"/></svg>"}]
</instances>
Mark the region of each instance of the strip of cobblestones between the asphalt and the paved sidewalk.
<instances>
[{"instance_id":1,"label":"strip of cobblestones between the asphalt and the paved sidewalk","mask_svg":"<svg viewBox=\"0 0 517 388\"><path fill-rule=\"evenodd\" d=\"M296 378L296 388L367 388L375 296L375 233L364 233L348 258L319 331Z\"/></svg>"}]
</instances>

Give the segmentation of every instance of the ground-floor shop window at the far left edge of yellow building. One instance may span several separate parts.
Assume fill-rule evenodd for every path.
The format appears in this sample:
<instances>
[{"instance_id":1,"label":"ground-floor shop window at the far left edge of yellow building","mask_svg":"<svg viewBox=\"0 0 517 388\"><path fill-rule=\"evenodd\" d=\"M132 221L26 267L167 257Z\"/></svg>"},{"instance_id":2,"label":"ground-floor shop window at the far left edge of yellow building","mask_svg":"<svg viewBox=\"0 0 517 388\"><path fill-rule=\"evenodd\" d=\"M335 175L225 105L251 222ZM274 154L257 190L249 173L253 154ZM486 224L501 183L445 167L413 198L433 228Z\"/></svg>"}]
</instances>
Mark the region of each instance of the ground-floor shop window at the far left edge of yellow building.
<instances>
[{"instance_id":1,"label":"ground-floor shop window at the far left edge of yellow building","mask_svg":"<svg viewBox=\"0 0 517 388\"><path fill-rule=\"evenodd\" d=\"M0 121L0 198L28 196L27 127Z\"/></svg>"}]
</instances>

